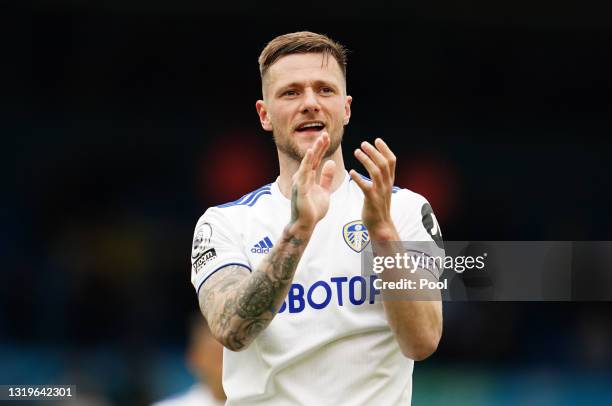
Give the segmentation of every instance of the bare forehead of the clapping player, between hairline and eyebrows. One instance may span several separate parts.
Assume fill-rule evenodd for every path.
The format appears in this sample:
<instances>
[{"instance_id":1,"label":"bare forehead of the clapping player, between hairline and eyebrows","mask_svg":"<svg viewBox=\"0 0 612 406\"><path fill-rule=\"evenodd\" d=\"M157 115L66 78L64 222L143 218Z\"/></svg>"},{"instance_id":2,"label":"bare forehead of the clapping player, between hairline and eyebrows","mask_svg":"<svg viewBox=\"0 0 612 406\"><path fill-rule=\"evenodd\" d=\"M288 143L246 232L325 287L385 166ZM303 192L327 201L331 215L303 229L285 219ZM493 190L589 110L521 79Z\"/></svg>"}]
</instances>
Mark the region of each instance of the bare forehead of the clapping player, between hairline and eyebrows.
<instances>
[{"instance_id":1,"label":"bare forehead of the clapping player, between hairline and eyebrows","mask_svg":"<svg viewBox=\"0 0 612 406\"><path fill-rule=\"evenodd\" d=\"M283 56L270 66L265 82L269 86L277 87L313 80L343 83L344 76L336 58L320 53Z\"/></svg>"}]
</instances>

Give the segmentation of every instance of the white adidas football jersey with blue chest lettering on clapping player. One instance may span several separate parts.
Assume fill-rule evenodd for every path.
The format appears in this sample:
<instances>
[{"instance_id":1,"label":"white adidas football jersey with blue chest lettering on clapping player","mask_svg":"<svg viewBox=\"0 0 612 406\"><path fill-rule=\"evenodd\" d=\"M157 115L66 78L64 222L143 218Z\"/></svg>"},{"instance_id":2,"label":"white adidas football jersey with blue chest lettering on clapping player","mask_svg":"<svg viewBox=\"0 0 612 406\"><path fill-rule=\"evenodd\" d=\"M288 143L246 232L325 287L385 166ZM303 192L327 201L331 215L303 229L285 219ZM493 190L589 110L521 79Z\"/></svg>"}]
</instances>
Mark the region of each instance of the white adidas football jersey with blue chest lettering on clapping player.
<instances>
[{"instance_id":1,"label":"white adidas football jersey with blue chest lettering on clapping player","mask_svg":"<svg viewBox=\"0 0 612 406\"><path fill-rule=\"evenodd\" d=\"M196 226L196 291L230 264L256 269L290 219L278 182L209 208ZM427 200L393 189L391 212L403 241L441 236ZM380 294L361 276L369 243L363 192L345 172L316 226L285 303L245 350L223 353L227 405L408 405L413 361L400 351Z\"/></svg>"}]
</instances>

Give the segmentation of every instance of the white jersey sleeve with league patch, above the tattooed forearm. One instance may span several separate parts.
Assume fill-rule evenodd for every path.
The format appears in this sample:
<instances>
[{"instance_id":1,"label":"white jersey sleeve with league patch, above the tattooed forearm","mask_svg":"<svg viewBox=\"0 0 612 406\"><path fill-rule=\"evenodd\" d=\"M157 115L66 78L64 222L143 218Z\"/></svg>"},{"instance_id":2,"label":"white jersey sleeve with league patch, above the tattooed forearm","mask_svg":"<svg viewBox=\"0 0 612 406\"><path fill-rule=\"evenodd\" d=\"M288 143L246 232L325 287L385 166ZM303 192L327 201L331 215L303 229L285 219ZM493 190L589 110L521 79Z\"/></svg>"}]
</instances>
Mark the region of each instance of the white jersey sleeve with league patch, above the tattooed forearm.
<instances>
[{"instance_id":1,"label":"white jersey sleeve with league patch, above the tattooed forearm","mask_svg":"<svg viewBox=\"0 0 612 406\"><path fill-rule=\"evenodd\" d=\"M215 272L230 265L251 270L240 236L220 209L212 207L200 217L191 246L191 284L196 292Z\"/></svg>"}]
</instances>

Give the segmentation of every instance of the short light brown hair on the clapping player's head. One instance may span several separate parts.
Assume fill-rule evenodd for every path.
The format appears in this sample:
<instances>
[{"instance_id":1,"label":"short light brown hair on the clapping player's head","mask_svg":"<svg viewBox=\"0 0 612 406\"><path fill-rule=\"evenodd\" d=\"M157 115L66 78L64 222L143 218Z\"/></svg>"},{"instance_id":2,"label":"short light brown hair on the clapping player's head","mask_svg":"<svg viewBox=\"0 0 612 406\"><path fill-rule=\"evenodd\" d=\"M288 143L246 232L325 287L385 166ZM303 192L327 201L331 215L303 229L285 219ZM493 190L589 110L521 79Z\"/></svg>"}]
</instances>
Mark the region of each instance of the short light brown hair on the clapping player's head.
<instances>
[{"instance_id":1,"label":"short light brown hair on the clapping player's head","mask_svg":"<svg viewBox=\"0 0 612 406\"><path fill-rule=\"evenodd\" d=\"M266 45L259 55L259 73L263 80L266 72L274 62L291 54L318 53L326 57L334 57L342 75L346 80L346 53L347 49L327 35L310 31L292 32L274 38Z\"/></svg>"}]
</instances>

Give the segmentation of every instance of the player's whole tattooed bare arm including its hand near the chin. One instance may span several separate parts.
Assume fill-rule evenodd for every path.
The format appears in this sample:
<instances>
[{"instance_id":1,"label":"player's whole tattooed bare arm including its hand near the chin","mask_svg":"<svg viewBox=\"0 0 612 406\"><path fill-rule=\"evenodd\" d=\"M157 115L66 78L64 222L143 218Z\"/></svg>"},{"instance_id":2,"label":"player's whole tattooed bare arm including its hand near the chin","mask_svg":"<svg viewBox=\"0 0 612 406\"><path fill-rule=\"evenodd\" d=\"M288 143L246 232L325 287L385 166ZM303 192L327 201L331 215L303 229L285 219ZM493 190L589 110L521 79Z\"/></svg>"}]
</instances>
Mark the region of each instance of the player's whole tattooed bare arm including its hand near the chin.
<instances>
[{"instance_id":1,"label":"player's whole tattooed bare arm including its hand near the chin","mask_svg":"<svg viewBox=\"0 0 612 406\"><path fill-rule=\"evenodd\" d=\"M229 266L212 275L201 287L199 303L211 332L233 351L246 348L277 314L316 224L329 208L334 162L323 166L319 183L316 170L329 146L324 133L309 149L293 177L291 219L272 251L251 274Z\"/></svg>"}]
</instances>

